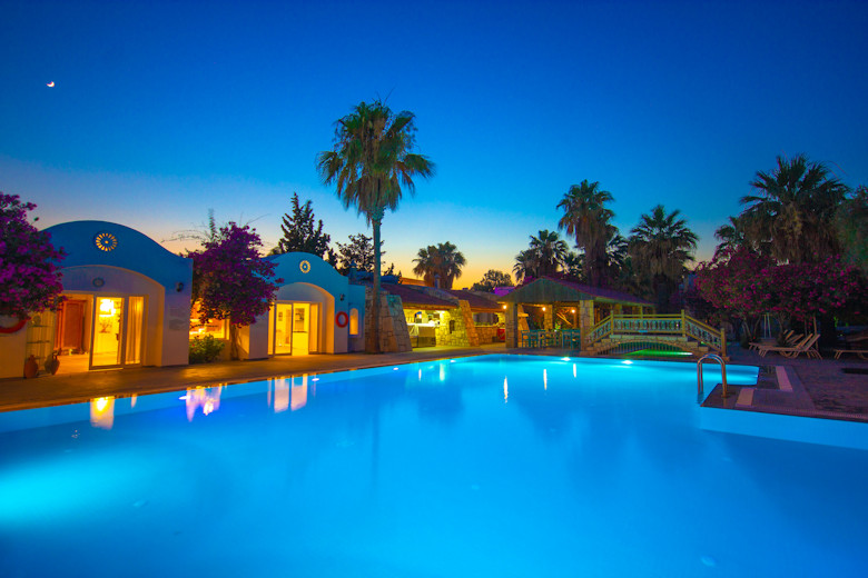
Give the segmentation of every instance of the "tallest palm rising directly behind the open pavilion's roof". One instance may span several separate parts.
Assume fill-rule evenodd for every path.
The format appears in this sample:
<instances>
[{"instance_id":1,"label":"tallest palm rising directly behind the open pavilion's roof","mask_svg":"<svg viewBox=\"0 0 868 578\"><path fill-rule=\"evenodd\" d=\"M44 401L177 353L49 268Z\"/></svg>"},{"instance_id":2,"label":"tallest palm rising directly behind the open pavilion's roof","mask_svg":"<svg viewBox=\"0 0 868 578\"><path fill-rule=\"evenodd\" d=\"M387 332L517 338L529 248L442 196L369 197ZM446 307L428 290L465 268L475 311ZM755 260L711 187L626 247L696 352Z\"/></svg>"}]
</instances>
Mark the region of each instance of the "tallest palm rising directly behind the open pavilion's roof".
<instances>
[{"instance_id":1,"label":"tallest palm rising directly behind the open pavilion's roof","mask_svg":"<svg viewBox=\"0 0 868 578\"><path fill-rule=\"evenodd\" d=\"M558 228L566 229L566 235L574 235L575 246L584 250L588 283L592 286L599 286L603 280L605 246L618 232L609 223L614 212L605 207L612 200L612 193L601 190L599 182L585 179L570 187L558 203L558 208L563 209Z\"/></svg>"}]
</instances>

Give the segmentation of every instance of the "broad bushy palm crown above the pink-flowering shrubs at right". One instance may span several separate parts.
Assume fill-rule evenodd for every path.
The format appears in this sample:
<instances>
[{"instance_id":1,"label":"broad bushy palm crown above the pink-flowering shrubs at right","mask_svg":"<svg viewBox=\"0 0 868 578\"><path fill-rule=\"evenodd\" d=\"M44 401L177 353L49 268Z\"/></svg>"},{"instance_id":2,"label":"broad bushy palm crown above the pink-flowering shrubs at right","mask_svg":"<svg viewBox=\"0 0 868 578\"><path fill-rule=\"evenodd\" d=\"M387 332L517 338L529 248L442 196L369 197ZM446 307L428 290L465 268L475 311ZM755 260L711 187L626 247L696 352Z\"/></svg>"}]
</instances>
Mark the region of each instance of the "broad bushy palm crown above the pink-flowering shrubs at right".
<instances>
[{"instance_id":1,"label":"broad bushy palm crown above the pink-flowering shrubs at right","mask_svg":"<svg viewBox=\"0 0 868 578\"><path fill-rule=\"evenodd\" d=\"M825 165L810 162L805 155L777 160L771 173L757 172L750 183L754 195L741 199L747 207L739 220L748 239L770 243L779 261L816 262L838 253L834 219L849 187L829 178Z\"/></svg>"}]
</instances>

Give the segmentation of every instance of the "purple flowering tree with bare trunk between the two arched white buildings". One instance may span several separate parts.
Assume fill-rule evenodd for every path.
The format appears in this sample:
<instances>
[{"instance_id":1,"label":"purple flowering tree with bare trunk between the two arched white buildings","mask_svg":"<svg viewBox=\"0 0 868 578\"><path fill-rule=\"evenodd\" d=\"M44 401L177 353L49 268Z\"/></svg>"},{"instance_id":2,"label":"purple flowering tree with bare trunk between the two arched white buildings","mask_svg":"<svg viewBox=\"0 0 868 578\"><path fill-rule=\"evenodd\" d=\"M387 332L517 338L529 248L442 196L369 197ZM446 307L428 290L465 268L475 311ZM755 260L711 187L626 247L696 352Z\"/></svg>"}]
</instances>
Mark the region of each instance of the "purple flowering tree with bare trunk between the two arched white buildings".
<instances>
[{"instance_id":1,"label":"purple flowering tree with bare trunk between the two arched white buildings","mask_svg":"<svg viewBox=\"0 0 868 578\"><path fill-rule=\"evenodd\" d=\"M238 359L238 328L251 325L268 311L277 285L275 263L263 259L263 241L249 227L230 222L221 227L216 239L206 241L201 251L188 253L193 259L193 298L199 319L229 319L231 358Z\"/></svg>"}]
</instances>

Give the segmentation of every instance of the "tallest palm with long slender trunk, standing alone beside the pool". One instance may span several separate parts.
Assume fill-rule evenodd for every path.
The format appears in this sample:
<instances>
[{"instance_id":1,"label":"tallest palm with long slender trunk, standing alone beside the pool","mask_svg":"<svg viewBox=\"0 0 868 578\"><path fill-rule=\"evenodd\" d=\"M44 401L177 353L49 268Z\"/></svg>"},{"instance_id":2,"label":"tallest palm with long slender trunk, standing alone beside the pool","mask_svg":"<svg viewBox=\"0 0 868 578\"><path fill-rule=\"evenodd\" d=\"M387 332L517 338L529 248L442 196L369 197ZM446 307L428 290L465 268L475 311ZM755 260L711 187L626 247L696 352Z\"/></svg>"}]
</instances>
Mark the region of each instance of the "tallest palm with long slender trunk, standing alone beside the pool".
<instances>
[{"instance_id":1,"label":"tallest palm with long slender trunk, standing alone beside the pool","mask_svg":"<svg viewBox=\"0 0 868 578\"><path fill-rule=\"evenodd\" d=\"M317 155L316 167L324 185L337 185L344 208L355 207L374 229L374 352L379 352L379 227L386 209L395 210L402 187L415 192L413 178L434 175L434 163L412 152L415 146L414 114L394 114L382 101L358 103L336 122L334 148Z\"/></svg>"}]
</instances>

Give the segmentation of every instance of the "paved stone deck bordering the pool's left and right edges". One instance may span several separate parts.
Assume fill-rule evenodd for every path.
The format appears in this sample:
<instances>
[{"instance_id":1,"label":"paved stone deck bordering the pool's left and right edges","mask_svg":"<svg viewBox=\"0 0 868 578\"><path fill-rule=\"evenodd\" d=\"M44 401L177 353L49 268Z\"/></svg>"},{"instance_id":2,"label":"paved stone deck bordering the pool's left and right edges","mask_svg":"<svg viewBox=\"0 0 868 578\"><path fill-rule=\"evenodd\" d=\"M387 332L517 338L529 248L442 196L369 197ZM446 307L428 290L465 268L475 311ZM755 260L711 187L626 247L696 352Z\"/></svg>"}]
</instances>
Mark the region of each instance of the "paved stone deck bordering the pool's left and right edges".
<instances>
[{"instance_id":1,"label":"paved stone deck bordering the pool's left and right edges","mask_svg":"<svg viewBox=\"0 0 868 578\"><path fill-rule=\"evenodd\" d=\"M327 373L481 353L534 353L574 356L556 349L506 349L503 343L476 348L432 347L405 353L346 353L337 356L276 357L255 361L224 361L183 367L147 367L85 373L0 379L0 411L89 401L92 398L176 391L197 386L258 381L274 377ZM721 398L713 388L709 407L766 411L868 422L868 361L760 357L738 347L729 351L731 363L759 366L754 387L730 387ZM693 362L685 360L685 362ZM712 387L707 383L706 387Z\"/></svg>"}]
</instances>

